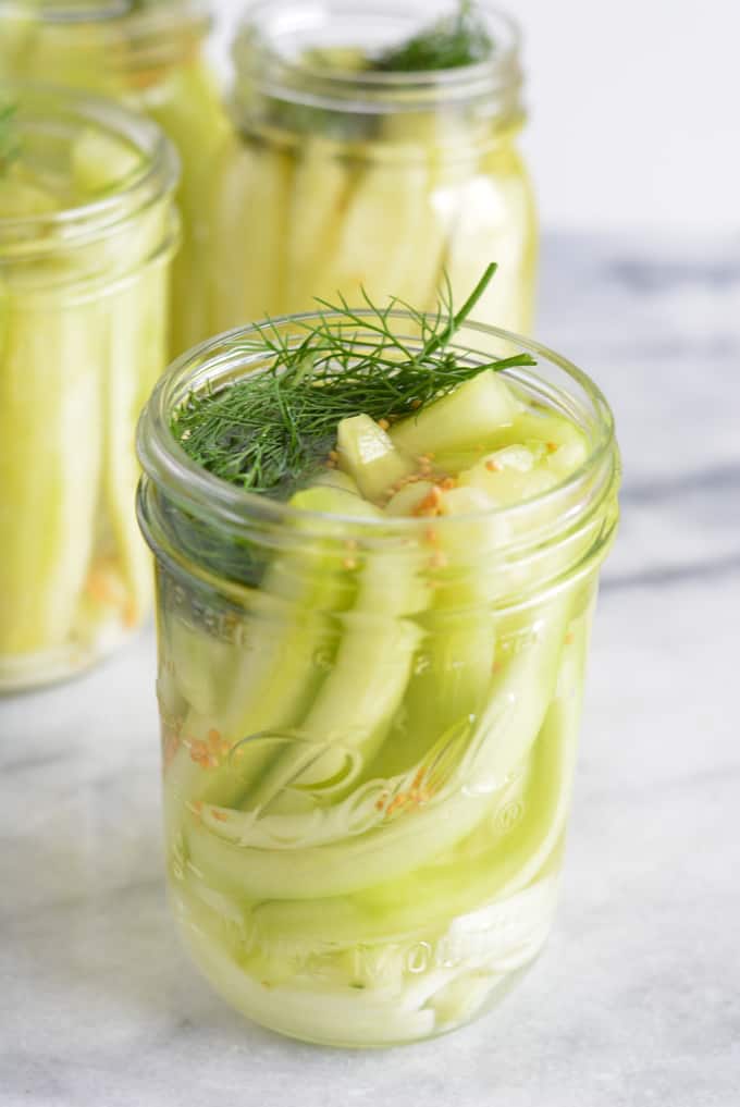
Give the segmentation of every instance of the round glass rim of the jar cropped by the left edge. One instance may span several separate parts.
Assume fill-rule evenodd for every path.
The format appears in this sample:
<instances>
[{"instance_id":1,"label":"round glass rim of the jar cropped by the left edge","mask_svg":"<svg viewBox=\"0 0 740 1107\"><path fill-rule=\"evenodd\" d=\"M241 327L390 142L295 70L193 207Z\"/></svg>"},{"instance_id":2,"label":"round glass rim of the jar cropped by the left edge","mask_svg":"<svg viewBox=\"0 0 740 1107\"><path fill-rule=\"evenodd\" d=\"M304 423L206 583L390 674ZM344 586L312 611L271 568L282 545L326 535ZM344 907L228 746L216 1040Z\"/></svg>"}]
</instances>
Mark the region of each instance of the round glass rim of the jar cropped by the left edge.
<instances>
[{"instance_id":1,"label":"round glass rim of the jar cropped by the left edge","mask_svg":"<svg viewBox=\"0 0 740 1107\"><path fill-rule=\"evenodd\" d=\"M175 147L143 116L97 96L22 81L0 81L0 103L14 105L21 144L24 134L42 136L60 155L69 154L77 137L93 133L138 155L138 164L113 179L100 198L44 214L0 216L0 262L94 242L174 193L179 178Z\"/></svg>"}]
</instances>

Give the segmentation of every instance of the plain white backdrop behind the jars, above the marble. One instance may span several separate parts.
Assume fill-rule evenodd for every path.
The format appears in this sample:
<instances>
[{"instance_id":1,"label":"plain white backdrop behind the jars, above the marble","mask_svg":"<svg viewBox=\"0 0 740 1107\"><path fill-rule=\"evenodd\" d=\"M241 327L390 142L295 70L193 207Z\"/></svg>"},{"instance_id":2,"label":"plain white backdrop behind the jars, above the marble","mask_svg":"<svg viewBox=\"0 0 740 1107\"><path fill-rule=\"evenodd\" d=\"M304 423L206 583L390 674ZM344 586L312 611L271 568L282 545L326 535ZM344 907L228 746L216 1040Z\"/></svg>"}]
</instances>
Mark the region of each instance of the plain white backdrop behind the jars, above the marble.
<instances>
[{"instance_id":1,"label":"plain white backdrop behind the jars, above the marble","mask_svg":"<svg viewBox=\"0 0 740 1107\"><path fill-rule=\"evenodd\" d=\"M222 59L244 4L213 3ZM739 0L500 4L524 31L523 144L546 227L740 241Z\"/></svg>"}]
</instances>

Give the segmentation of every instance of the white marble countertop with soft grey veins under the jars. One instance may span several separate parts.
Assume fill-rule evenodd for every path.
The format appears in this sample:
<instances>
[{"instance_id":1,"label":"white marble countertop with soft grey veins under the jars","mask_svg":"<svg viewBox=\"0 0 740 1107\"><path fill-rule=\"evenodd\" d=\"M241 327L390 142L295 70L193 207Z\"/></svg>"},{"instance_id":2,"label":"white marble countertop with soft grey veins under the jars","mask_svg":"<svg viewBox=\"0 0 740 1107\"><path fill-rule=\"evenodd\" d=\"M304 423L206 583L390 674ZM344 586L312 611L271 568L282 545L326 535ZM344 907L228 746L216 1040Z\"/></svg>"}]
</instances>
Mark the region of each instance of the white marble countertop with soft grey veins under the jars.
<instances>
[{"instance_id":1,"label":"white marble countertop with soft grey veins under the jars","mask_svg":"<svg viewBox=\"0 0 740 1107\"><path fill-rule=\"evenodd\" d=\"M167 917L147 632L0 704L2 1107L738 1103L740 242L550 235L538 335L609 396L625 484L534 970L482 1022L390 1052L232 1014Z\"/></svg>"}]
</instances>

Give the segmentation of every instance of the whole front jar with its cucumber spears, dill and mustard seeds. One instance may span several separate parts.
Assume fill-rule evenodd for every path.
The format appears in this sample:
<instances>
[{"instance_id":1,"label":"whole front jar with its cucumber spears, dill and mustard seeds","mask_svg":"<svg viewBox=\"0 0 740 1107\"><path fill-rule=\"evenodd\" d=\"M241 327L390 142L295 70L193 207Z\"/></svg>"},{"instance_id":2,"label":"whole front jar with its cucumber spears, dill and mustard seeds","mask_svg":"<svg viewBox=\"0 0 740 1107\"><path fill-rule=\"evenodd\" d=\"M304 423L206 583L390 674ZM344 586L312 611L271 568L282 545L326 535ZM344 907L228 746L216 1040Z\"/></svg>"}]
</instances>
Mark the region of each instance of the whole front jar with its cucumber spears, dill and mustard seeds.
<instances>
[{"instance_id":1,"label":"whole front jar with its cucumber spears, dill and mustard seeds","mask_svg":"<svg viewBox=\"0 0 740 1107\"><path fill-rule=\"evenodd\" d=\"M552 922L618 466L475 299L233 331L142 417L175 917L299 1038L455 1030Z\"/></svg>"}]
</instances>

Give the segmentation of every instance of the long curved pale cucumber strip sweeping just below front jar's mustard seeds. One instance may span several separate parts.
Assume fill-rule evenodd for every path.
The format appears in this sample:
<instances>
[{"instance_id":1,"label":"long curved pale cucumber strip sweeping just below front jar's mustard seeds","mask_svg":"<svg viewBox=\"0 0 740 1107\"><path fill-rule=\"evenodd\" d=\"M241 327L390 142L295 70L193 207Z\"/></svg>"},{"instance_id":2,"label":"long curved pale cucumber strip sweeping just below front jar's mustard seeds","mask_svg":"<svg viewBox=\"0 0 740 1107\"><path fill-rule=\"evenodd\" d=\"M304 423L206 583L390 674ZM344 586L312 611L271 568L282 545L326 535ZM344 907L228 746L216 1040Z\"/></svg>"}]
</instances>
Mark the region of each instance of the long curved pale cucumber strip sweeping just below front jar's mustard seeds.
<instances>
[{"instance_id":1,"label":"long curved pale cucumber strip sweeping just below front jar's mustard seeds","mask_svg":"<svg viewBox=\"0 0 740 1107\"><path fill-rule=\"evenodd\" d=\"M553 602L549 614L528 649L494 674L489 705L460 757L465 792L450 785L434 801L382 819L365 834L284 851L231 845L206 829L199 817L186 815L191 862L233 894L312 899L403 877L452 847L497 803L540 731L557 679L567 603Z\"/></svg>"}]
</instances>

